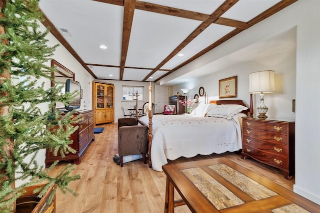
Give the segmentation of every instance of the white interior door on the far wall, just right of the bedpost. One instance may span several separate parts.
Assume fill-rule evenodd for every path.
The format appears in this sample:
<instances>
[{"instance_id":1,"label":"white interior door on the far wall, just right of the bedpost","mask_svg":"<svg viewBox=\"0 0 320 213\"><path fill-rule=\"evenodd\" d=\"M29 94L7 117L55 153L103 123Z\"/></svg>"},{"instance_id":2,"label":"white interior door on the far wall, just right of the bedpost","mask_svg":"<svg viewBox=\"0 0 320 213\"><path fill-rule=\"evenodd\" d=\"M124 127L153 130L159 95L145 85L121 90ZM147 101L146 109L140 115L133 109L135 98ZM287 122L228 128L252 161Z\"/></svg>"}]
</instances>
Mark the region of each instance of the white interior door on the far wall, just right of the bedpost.
<instances>
[{"instance_id":1,"label":"white interior door on the far wall, just right of the bedpost","mask_svg":"<svg viewBox=\"0 0 320 213\"><path fill-rule=\"evenodd\" d=\"M160 86L159 84L154 85L154 104L155 113L163 112L163 106L168 104L169 87Z\"/></svg>"}]
</instances>

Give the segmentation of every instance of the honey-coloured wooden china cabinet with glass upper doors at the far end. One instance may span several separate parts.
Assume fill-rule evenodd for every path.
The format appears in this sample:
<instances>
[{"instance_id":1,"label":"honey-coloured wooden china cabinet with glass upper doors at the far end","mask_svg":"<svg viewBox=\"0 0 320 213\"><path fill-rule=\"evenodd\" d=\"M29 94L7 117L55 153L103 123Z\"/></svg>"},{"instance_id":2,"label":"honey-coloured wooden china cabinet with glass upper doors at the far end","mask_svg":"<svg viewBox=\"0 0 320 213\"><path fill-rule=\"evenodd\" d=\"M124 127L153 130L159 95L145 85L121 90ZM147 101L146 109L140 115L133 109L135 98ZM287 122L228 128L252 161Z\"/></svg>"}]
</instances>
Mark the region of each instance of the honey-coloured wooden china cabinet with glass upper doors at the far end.
<instances>
[{"instance_id":1,"label":"honey-coloured wooden china cabinet with glass upper doors at the far end","mask_svg":"<svg viewBox=\"0 0 320 213\"><path fill-rule=\"evenodd\" d=\"M114 122L114 85L93 81L94 124Z\"/></svg>"}]
</instances>

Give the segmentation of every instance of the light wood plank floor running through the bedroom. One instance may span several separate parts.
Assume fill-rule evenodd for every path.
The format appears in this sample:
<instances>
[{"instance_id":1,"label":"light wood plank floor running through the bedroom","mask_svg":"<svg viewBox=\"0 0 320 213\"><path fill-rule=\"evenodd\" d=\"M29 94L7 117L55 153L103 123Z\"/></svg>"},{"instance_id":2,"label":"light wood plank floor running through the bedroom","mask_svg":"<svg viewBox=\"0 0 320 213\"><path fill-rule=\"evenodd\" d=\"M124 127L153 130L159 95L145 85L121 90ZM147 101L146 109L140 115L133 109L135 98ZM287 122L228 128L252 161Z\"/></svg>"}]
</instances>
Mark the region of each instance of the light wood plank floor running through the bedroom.
<instances>
[{"instance_id":1,"label":"light wood plank floor running through the bedroom","mask_svg":"<svg viewBox=\"0 0 320 213\"><path fill-rule=\"evenodd\" d=\"M112 161L117 153L117 123L98 127L104 127L103 133L95 135L95 141L91 142L82 162L74 171L81 179L69 184L77 196L57 192L56 213L163 213L165 174L149 169L142 161L124 164L120 168ZM292 190L294 178L288 181L279 170L251 159L242 160L239 153L179 158L169 163L216 157L227 157ZM65 164L60 162L52 173L56 173ZM175 212L190 211L186 206L181 206L175 208Z\"/></svg>"}]
</instances>

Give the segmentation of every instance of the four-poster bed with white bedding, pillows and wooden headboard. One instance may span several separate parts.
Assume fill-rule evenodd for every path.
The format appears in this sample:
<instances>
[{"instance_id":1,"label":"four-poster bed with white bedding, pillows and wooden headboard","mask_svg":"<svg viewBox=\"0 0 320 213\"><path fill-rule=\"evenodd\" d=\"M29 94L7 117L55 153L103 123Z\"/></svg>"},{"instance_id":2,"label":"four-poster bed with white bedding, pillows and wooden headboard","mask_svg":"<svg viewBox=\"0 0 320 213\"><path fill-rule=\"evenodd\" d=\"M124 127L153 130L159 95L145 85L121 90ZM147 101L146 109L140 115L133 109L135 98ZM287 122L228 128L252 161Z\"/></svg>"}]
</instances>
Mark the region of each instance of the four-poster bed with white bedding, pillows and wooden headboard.
<instances>
[{"instance_id":1,"label":"four-poster bed with white bedding, pillows and wooden headboard","mask_svg":"<svg viewBox=\"0 0 320 213\"><path fill-rule=\"evenodd\" d=\"M151 102L151 85L149 91ZM139 118L149 127L149 167L162 171L167 159L238 151L241 149L241 117L247 112L242 100L210 101L190 115L152 115L149 108L148 115Z\"/></svg>"}]
</instances>

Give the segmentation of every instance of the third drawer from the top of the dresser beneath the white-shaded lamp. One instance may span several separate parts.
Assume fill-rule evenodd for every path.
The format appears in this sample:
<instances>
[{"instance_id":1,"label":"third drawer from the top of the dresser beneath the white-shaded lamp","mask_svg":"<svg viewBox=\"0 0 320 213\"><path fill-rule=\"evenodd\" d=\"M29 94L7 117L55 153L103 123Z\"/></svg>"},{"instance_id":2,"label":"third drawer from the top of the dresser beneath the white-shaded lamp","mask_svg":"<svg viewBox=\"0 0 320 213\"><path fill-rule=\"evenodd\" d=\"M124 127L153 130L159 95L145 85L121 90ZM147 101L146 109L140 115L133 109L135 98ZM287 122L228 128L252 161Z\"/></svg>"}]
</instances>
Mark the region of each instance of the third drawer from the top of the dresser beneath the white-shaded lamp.
<instances>
[{"instance_id":1,"label":"third drawer from the top of the dresser beneath the white-shaded lamp","mask_svg":"<svg viewBox=\"0 0 320 213\"><path fill-rule=\"evenodd\" d=\"M278 155L286 158L288 156L288 148L284 144L260 141L255 138L243 136L243 144L268 152L271 155Z\"/></svg>"}]
</instances>

